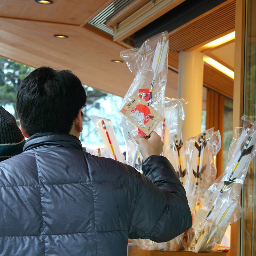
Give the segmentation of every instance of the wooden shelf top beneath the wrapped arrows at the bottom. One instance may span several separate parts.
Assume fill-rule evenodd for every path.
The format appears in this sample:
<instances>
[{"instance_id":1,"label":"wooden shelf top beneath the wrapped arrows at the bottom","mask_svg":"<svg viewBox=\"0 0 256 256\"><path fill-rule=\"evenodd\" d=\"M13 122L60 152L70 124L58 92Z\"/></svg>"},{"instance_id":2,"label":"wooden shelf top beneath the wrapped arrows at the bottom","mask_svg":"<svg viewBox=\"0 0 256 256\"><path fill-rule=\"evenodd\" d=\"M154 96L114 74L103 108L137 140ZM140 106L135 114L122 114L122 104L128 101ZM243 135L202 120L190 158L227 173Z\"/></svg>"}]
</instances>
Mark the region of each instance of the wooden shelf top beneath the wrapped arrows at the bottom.
<instances>
[{"instance_id":1,"label":"wooden shelf top beneath the wrapped arrows at the bottom","mask_svg":"<svg viewBox=\"0 0 256 256\"><path fill-rule=\"evenodd\" d=\"M199 252L193 253L191 251L149 251L142 250L139 247L129 246L128 256L225 256L225 252Z\"/></svg>"}]
</instances>

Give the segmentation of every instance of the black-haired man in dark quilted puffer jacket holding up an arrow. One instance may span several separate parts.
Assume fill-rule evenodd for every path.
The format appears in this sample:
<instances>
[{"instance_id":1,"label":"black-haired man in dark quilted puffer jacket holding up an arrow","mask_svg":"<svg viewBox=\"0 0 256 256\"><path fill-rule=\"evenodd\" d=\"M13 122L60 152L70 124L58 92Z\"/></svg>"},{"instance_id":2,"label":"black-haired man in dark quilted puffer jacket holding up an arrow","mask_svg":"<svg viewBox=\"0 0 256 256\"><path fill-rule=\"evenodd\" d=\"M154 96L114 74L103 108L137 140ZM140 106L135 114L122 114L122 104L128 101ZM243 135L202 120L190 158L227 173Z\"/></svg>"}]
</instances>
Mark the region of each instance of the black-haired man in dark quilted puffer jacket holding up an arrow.
<instances>
[{"instance_id":1,"label":"black-haired man in dark quilted puffer jacket holding up an arrow","mask_svg":"<svg viewBox=\"0 0 256 256\"><path fill-rule=\"evenodd\" d=\"M86 94L70 71L41 67L19 86L29 139L0 163L0 255L126 255L128 238L168 241L191 226L183 189L156 133L137 138L143 174L82 151Z\"/></svg>"}]
</instances>

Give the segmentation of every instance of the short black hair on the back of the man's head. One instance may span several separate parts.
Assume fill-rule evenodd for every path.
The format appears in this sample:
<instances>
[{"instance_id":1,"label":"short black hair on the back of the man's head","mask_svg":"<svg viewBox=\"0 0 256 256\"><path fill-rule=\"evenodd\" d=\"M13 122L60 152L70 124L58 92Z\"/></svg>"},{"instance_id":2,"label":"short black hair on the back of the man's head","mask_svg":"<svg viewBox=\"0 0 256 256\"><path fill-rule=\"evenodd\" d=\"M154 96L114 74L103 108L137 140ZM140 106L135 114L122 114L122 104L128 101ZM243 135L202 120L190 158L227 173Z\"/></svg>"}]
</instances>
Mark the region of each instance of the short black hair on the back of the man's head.
<instances>
[{"instance_id":1,"label":"short black hair on the back of the man's head","mask_svg":"<svg viewBox=\"0 0 256 256\"><path fill-rule=\"evenodd\" d=\"M81 81L69 70L40 67L21 82L16 109L27 135L69 133L86 103Z\"/></svg>"}]
</instances>

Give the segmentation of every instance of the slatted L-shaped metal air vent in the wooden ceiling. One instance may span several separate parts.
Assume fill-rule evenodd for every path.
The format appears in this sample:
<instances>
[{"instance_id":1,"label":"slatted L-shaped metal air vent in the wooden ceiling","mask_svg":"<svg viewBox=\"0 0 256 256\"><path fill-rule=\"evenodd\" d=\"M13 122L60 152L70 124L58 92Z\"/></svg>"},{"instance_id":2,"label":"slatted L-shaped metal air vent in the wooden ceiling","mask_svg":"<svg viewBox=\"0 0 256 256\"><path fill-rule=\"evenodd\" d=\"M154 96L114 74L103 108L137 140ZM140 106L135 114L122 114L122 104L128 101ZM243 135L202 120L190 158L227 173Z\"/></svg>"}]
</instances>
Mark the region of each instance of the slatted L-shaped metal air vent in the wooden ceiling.
<instances>
[{"instance_id":1,"label":"slatted L-shaped metal air vent in the wooden ceiling","mask_svg":"<svg viewBox=\"0 0 256 256\"><path fill-rule=\"evenodd\" d=\"M113 29L105 25L106 20L121 10L123 7L125 7L131 1L132 0L114 0L110 5L98 13L94 18L92 18L87 24L113 36Z\"/></svg>"}]
</instances>

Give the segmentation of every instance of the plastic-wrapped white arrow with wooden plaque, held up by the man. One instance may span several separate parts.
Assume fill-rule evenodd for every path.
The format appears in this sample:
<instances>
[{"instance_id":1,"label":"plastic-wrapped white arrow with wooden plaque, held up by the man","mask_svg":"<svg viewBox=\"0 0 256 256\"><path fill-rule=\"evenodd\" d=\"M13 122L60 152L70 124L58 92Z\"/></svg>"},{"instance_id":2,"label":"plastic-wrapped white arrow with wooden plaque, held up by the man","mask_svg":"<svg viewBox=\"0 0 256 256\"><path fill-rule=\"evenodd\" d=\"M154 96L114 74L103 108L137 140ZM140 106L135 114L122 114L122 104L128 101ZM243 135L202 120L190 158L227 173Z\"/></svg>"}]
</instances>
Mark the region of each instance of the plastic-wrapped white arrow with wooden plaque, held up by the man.
<instances>
[{"instance_id":1,"label":"plastic-wrapped white arrow with wooden plaque, held up by the man","mask_svg":"<svg viewBox=\"0 0 256 256\"><path fill-rule=\"evenodd\" d=\"M130 137L136 134L149 135L162 121L165 114L164 95L168 60L167 31L147 39L140 48L122 51L120 56L135 75L120 108L121 126L126 126L123 127L124 131L128 128ZM127 141L126 143L128 144ZM131 152L128 153L131 154ZM137 145L127 159L132 166L135 166L138 159Z\"/></svg>"}]
</instances>

